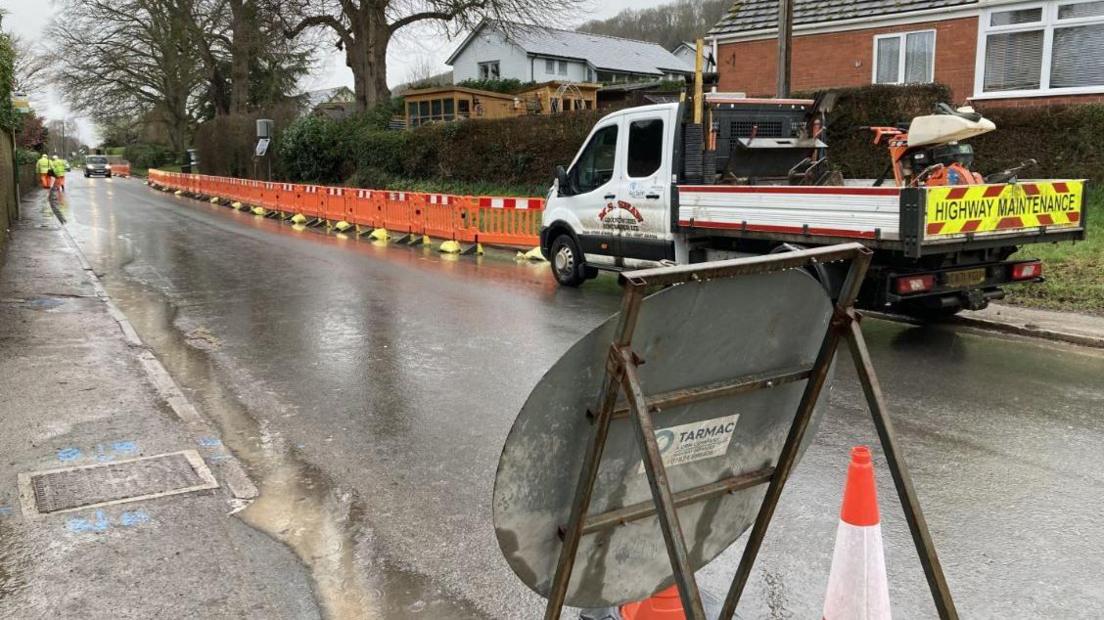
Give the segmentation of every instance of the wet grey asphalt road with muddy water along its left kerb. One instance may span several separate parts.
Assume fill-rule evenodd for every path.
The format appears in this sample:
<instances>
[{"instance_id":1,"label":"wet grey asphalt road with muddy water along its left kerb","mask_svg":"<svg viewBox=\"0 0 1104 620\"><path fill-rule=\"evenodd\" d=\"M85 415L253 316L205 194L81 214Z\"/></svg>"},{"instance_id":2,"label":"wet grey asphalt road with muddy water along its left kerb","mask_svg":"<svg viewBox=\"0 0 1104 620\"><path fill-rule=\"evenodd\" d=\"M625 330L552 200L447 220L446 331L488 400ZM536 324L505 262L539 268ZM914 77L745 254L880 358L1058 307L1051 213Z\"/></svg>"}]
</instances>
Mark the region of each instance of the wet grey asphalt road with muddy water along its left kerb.
<instances>
[{"instance_id":1,"label":"wet grey asphalt road with muddy water along its left kerb","mask_svg":"<svg viewBox=\"0 0 1104 620\"><path fill-rule=\"evenodd\" d=\"M383 247L73 178L70 227L108 292L262 498L240 513L310 569L341 618L534 618L490 524L526 396L617 304L611 279ZM1104 355L868 321L916 490L966 618L1104 616ZM848 448L873 441L841 365L752 576L744 618L815 617ZM899 618L934 617L875 461ZM721 591L737 543L702 570Z\"/></svg>"}]
</instances>

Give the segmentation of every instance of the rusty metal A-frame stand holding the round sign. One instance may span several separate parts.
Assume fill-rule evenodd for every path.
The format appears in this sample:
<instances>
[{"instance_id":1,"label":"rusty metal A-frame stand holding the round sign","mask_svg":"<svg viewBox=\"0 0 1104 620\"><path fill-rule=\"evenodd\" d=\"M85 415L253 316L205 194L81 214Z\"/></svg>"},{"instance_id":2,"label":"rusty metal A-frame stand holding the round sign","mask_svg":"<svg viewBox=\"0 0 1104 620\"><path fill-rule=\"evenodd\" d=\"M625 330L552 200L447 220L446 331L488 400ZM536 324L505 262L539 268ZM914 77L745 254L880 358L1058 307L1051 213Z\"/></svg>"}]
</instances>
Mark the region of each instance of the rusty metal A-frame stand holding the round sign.
<instances>
[{"instance_id":1,"label":"rusty metal A-frame stand holding the round sign","mask_svg":"<svg viewBox=\"0 0 1104 620\"><path fill-rule=\"evenodd\" d=\"M943 576L935 547L932 544L927 524L920 509L920 502L912 487L909 470L898 451L893 426L887 413L884 398L870 354L859 325L860 316L853 303L862 285L867 267L870 265L871 252L861 244L843 244L816 249L806 249L786 254L773 254L755 258L725 260L712 264L688 265L658 269L644 269L623 274L622 285L625 295L622 298L620 317L617 323L616 339L609 346L606 361L606 376L603 381L602 396L597 411L593 416L593 432L587 441L583 467L580 471L575 498L571 507L571 516L563 530L563 546L556 563L555 577L549 592L545 620L559 620L567 585L571 581L575 555L583 536L599 532L619 524L656 515L671 562L675 582L686 617L690 620L704 620L701 595L693 577L693 569L687 552L686 541L679 525L677 509L679 506L704 501L724 493L749 489L767 483L766 495L760 507L755 524L752 526L744 547L740 566L729 595L721 611L722 619L731 619L743 594L744 586L751 575L755 557L758 555L766 528L774 516L782 490L789 478L798 449L805 437L813 413L825 385L831 362L839 348L840 340L846 339L851 350L851 357L862 384L873 417L878 438L885 452L893 484L904 509L920 562L924 568L932 598L941 619L957 619L954 601ZM839 298L835 301L831 322L825 333L816 362L807 368L787 370L775 374L760 374L735 377L729 382L710 384L699 387L678 389L675 392L645 396L637 376L636 367L643 363L633 351L633 331L637 323L640 306L648 287L675 285L699 280L735 278L754 274L768 274L787 269L816 266L821 263L850 260L850 268L843 281ZM720 396L730 396L771 387L779 383L805 380L805 391L802 395L797 413L790 426L789 434L778 456L777 464L754 472L742 473L725 480L703 484L693 489L672 493L667 479L667 470L660 457L656 442L651 411L675 405L686 405ZM626 406L617 408L618 395L624 394ZM594 491L594 482L602 461L609 425L614 419L628 417L634 426L637 445L644 456L645 471L651 489L652 501L625 506L607 513L586 514Z\"/></svg>"}]
</instances>

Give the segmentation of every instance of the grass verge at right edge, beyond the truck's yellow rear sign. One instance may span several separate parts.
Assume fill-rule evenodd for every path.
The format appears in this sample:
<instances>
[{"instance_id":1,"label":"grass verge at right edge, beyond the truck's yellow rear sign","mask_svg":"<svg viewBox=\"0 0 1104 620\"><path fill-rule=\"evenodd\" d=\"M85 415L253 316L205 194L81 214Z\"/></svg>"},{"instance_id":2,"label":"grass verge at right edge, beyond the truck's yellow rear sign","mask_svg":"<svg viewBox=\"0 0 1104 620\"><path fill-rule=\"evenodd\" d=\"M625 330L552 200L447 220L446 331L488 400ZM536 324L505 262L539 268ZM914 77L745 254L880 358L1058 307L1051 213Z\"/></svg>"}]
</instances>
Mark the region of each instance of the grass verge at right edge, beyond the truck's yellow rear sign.
<instances>
[{"instance_id":1,"label":"grass verge at right edge, beyond the truck's yellow rear sign","mask_svg":"<svg viewBox=\"0 0 1104 620\"><path fill-rule=\"evenodd\" d=\"M1104 188L1091 189L1085 205L1085 240L1026 245L1016 254L1041 258L1047 281L1008 287L1006 301L1104 316Z\"/></svg>"}]
</instances>

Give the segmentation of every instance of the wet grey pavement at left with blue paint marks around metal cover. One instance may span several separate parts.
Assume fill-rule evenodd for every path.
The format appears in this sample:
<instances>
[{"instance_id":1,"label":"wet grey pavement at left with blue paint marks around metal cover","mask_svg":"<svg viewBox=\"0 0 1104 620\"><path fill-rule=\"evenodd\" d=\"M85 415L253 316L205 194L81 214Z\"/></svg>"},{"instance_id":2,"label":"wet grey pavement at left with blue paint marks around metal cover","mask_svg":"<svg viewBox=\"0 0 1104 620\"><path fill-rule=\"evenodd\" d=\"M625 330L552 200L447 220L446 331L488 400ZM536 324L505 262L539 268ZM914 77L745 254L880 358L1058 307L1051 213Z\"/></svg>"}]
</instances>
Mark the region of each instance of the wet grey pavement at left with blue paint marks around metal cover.
<instances>
[{"instance_id":1,"label":"wet grey pavement at left with blue paint marks around metal cover","mask_svg":"<svg viewBox=\"0 0 1104 620\"><path fill-rule=\"evenodd\" d=\"M0 270L0 617L318 618L296 556L226 516L256 490L217 430L181 417L187 400L35 199ZM200 452L220 488L42 516L21 506L20 473L180 450Z\"/></svg>"}]
</instances>

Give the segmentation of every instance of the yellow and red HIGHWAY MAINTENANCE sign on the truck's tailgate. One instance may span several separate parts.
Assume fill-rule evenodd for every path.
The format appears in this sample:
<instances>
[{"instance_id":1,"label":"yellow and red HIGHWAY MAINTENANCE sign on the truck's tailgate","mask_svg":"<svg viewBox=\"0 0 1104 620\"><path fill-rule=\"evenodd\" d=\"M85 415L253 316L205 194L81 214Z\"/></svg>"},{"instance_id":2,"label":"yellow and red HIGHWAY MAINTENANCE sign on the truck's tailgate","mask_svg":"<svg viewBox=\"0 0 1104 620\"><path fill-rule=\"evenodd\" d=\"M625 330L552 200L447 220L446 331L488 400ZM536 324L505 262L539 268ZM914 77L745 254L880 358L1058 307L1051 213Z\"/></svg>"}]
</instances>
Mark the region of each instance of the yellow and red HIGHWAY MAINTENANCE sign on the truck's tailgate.
<instances>
[{"instance_id":1,"label":"yellow and red HIGHWAY MAINTENANCE sign on the truck's tailgate","mask_svg":"<svg viewBox=\"0 0 1104 620\"><path fill-rule=\"evenodd\" d=\"M927 237L1081 225L1083 181L927 189Z\"/></svg>"}]
</instances>

